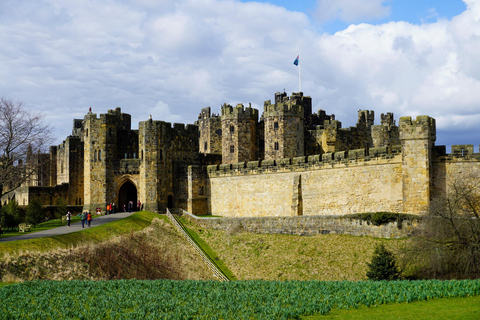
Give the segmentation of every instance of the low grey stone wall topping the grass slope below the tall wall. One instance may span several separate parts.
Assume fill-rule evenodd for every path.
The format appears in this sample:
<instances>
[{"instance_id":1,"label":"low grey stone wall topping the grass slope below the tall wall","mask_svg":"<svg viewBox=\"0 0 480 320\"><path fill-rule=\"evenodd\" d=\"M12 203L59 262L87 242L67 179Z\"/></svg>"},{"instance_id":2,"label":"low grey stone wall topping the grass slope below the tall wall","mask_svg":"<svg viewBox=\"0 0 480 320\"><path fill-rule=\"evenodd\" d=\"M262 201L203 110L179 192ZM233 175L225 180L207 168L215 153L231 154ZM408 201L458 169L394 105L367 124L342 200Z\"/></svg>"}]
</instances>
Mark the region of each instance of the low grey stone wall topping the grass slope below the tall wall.
<instances>
[{"instance_id":1,"label":"low grey stone wall topping the grass slope below the tall wall","mask_svg":"<svg viewBox=\"0 0 480 320\"><path fill-rule=\"evenodd\" d=\"M341 216L303 217L245 217L213 218L197 217L183 211L183 216L197 225L230 232L249 231L268 234L294 234L312 236L317 234L349 234L376 238L404 238L412 234L418 221L404 221L400 226L391 222L374 226L365 221Z\"/></svg>"}]
</instances>

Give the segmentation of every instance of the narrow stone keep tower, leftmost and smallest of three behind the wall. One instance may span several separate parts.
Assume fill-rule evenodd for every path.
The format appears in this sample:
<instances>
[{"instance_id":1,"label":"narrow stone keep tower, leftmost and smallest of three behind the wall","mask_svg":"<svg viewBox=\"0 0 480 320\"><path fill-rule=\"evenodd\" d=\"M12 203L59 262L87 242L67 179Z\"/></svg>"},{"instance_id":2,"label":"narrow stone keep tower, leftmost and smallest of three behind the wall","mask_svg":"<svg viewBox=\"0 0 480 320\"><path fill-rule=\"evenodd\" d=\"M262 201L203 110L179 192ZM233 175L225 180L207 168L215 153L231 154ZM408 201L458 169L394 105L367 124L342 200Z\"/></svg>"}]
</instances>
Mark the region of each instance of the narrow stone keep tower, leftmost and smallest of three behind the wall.
<instances>
[{"instance_id":1,"label":"narrow stone keep tower, leftmost and smallest of three behind the wall","mask_svg":"<svg viewBox=\"0 0 480 320\"><path fill-rule=\"evenodd\" d=\"M196 122L200 133L198 140L201 153L222 153L222 120L210 114L210 107L203 108Z\"/></svg>"}]
</instances>

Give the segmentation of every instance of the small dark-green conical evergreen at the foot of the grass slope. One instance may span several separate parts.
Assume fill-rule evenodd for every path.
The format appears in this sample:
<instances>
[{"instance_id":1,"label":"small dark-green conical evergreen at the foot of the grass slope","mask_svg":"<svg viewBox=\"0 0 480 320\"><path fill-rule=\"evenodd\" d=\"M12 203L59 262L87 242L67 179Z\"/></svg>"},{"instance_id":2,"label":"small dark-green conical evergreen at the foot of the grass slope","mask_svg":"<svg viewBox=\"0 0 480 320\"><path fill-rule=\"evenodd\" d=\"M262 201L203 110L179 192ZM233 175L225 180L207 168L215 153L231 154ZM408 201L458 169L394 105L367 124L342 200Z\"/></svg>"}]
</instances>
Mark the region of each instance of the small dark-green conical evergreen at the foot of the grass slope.
<instances>
[{"instance_id":1,"label":"small dark-green conical evergreen at the foot of the grass slope","mask_svg":"<svg viewBox=\"0 0 480 320\"><path fill-rule=\"evenodd\" d=\"M372 261L367 263L367 277L370 280L398 280L400 271L397 259L382 243L375 248Z\"/></svg>"}]
</instances>

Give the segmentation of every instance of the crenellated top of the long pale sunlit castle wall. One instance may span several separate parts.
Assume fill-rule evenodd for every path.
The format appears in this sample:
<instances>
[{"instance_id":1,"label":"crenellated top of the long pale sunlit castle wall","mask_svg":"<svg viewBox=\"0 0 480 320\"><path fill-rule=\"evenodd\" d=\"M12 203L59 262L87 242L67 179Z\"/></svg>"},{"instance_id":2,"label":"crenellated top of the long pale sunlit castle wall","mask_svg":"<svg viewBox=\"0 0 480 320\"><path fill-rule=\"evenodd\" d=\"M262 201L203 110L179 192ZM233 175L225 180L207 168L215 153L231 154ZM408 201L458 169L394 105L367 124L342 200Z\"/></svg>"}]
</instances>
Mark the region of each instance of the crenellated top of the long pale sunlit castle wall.
<instances>
[{"instance_id":1,"label":"crenellated top of the long pale sunlit castle wall","mask_svg":"<svg viewBox=\"0 0 480 320\"><path fill-rule=\"evenodd\" d=\"M401 164L400 153L389 153L387 148L356 149L308 157L294 157L277 160L248 161L207 166L210 177L297 172L347 168L351 166ZM370 154L370 155L367 155Z\"/></svg>"}]
</instances>

